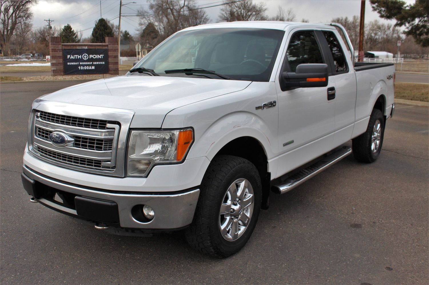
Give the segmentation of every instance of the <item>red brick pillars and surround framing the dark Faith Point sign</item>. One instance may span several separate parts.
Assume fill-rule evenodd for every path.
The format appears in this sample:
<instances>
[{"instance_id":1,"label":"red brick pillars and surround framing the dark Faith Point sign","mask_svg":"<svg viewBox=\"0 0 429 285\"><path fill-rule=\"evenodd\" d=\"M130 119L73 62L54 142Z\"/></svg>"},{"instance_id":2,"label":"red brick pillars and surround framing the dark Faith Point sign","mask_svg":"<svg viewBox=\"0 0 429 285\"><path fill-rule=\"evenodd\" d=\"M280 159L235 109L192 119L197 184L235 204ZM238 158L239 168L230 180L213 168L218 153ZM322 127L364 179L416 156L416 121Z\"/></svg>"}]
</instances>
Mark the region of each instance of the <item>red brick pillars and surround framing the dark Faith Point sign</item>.
<instances>
[{"instance_id":1,"label":"red brick pillars and surround framing the dark Faith Point sign","mask_svg":"<svg viewBox=\"0 0 429 285\"><path fill-rule=\"evenodd\" d=\"M118 62L118 39L106 37L106 43L103 44L63 44L61 37L51 37L49 42L49 51L51 53L51 76L64 75L63 49L107 49L109 56L109 68L107 73L112 75L119 74Z\"/></svg>"}]
</instances>

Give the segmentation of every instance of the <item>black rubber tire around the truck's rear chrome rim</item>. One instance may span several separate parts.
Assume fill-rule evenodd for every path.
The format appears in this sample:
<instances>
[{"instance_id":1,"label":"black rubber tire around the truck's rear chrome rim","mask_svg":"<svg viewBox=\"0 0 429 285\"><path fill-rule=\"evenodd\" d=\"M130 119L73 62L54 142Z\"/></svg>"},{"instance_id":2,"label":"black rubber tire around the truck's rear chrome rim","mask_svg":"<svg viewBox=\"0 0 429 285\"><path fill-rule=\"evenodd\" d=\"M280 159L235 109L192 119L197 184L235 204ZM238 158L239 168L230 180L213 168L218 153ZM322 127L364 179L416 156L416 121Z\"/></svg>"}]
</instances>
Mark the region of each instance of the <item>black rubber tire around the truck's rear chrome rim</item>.
<instances>
[{"instance_id":1,"label":"black rubber tire around the truck's rear chrome rim","mask_svg":"<svg viewBox=\"0 0 429 285\"><path fill-rule=\"evenodd\" d=\"M376 151L373 151L372 134L376 122L380 122L381 137ZM353 156L357 161L372 163L377 160L378 156L380 155L381 146L383 145L384 127L385 122L383 114L380 110L373 109L371 116L369 117L369 123L368 127L366 128L366 132L352 140Z\"/></svg>"}]
</instances>

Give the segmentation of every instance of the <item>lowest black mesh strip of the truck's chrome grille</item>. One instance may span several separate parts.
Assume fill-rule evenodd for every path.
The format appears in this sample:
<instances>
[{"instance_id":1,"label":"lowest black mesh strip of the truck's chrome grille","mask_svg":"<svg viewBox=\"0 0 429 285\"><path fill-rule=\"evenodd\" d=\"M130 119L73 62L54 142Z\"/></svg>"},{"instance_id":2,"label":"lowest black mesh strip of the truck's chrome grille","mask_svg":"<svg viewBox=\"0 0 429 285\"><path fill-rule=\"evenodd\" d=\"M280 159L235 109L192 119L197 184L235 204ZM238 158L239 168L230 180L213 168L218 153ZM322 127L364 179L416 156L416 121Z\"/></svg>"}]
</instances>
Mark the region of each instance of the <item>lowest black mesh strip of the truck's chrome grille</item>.
<instances>
[{"instance_id":1,"label":"lowest black mesh strip of the truck's chrome grille","mask_svg":"<svg viewBox=\"0 0 429 285\"><path fill-rule=\"evenodd\" d=\"M43 148L39 145L36 145L35 148L42 156L60 163L65 163L68 165L79 166L79 167L84 167L89 169L103 170L103 171L115 170L114 166L113 167L103 166L102 160L88 159L88 158L77 157L69 154L62 154L57 151L51 151L47 148Z\"/></svg>"}]
</instances>

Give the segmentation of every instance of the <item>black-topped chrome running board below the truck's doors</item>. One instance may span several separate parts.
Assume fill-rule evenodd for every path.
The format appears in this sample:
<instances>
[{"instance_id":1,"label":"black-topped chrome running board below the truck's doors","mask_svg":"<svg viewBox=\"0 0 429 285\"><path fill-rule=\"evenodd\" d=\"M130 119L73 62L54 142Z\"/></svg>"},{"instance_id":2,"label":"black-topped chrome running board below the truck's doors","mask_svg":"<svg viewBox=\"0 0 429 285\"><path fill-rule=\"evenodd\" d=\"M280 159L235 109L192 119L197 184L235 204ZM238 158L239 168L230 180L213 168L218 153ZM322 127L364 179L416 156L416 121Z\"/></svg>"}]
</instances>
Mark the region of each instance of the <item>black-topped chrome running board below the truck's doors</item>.
<instances>
[{"instance_id":1,"label":"black-topped chrome running board below the truck's doors","mask_svg":"<svg viewBox=\"0 0 429 285\"><path fill-rule=\"evenodd\" d=\"M301 185L302 183L304 183L314 175L327 169L329 166L332 166L333 164L337 163L338 161L340 161L350 153L351 153L351 148L348 146L339 148L338 150L335 150L331 154L327 154L316 163L308 166L305 169L302 169L300 172L287 178L287 180L285 180L281 184L272 185L272 190L275 193L284 194L287 191L292 190L296 186Z\"/></svg>"}]
</instances>

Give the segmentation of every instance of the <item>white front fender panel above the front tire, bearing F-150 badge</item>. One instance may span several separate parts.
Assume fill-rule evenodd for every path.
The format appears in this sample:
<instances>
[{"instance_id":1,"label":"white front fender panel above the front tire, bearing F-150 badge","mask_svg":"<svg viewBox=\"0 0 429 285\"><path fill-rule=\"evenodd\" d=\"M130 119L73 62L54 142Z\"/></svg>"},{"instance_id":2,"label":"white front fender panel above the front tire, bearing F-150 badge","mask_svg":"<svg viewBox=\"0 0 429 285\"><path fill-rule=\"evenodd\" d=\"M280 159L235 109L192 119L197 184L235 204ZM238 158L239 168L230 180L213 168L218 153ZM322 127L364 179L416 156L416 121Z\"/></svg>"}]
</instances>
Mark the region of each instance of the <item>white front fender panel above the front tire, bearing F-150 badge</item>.
<instances>
[{"instance_id":1,"label":"white front fender panel above the front tire, bearing F-150 badge","mask_svg":"<svg viewBox=\"0 0 429 285\"><path fill-rule=\"evenodd\" d=\"M195 102L167 114L163 128L193 127L195 142L187 159L213 159L218 151L239 137L259 141L268 159L278 152L278 108L256 110L256 106L277 100L271 82L252 82L246 89Z\"/></svg>"}]
</instances>

